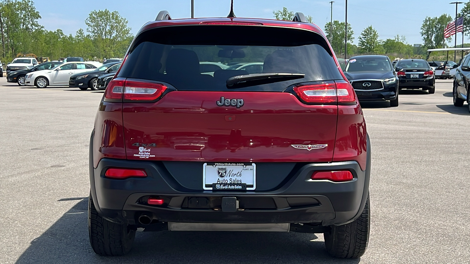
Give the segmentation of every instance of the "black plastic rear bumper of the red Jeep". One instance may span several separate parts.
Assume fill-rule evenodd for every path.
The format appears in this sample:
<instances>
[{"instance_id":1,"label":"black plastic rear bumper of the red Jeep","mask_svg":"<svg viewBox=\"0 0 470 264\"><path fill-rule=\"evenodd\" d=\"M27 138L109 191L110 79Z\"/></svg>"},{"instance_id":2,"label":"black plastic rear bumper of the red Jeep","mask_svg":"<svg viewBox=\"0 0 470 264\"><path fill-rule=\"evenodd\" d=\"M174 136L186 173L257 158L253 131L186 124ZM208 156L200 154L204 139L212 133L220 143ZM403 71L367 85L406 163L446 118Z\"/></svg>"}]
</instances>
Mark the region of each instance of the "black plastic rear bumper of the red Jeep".
<instances>
[{"instance_id":1,"label":"black plastic rear bumper of the red Jeep","mask_svg":"<svg viewBox=\"0 0 470 264\"><path fill-rule=\"evenodd\" d=\"M356 162L310 163L279 188L262 192L187 189L158 162L103 158L97 168L90 165L91 194L100 215L130 225L139 225L137 219L142 214L159 222L341 225L355 220L364 208L370 175L369 145L366 171L361 171ZM92 155L90 151L91 158ZM109 167L141 168L148 177L107 179L103 175ZM349 170L354 179L341 183L310 179L313 171L334 170ZM149 205L149 196L158 196L165 202L161 206ZM220 210L221 199L227 196L236 197L243 210Z\"/></svg>"}]
</instances>

